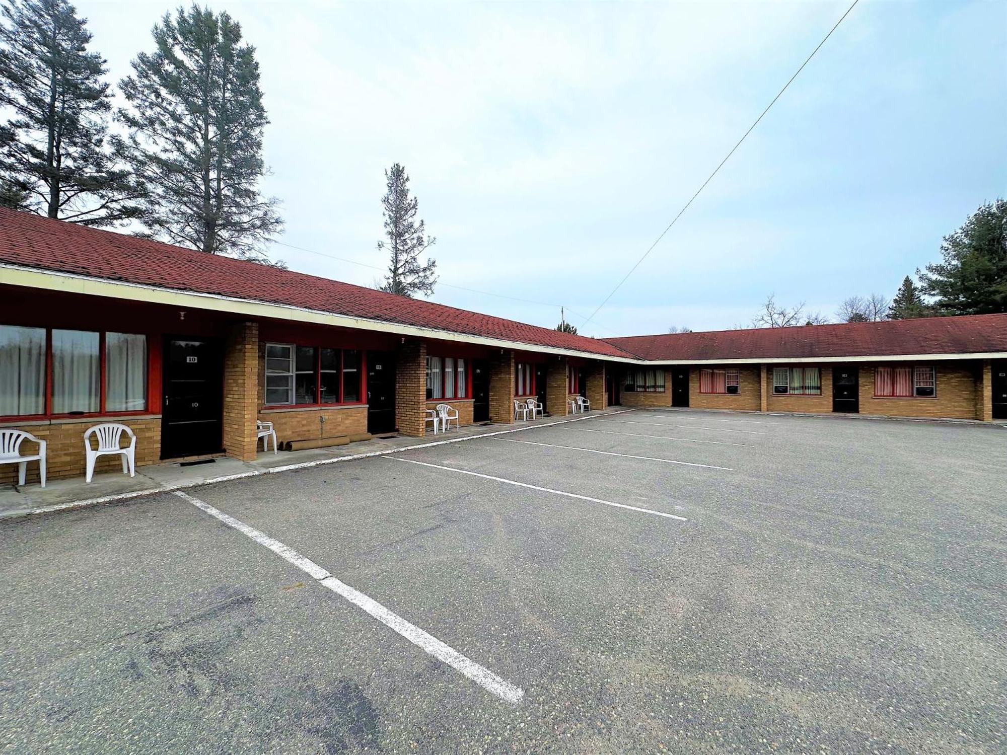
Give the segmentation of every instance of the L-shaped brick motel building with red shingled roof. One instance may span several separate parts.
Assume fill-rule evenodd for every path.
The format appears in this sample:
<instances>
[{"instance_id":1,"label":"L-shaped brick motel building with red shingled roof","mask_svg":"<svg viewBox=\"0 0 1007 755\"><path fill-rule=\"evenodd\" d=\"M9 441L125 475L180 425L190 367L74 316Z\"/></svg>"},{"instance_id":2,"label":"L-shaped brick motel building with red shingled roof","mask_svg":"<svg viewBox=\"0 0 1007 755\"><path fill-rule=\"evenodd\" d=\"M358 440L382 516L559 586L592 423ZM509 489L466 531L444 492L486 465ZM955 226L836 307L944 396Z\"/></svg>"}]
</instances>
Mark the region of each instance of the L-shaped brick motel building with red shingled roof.
<instances>
[{"instance_id":1,"label":"L-shaped brick motel building with red shingled roof","mask_svg":"<svg viewBox=\"0 0 1007 755\"><path fill-rule=\"evenodd\" d=\"M577 396L1007 420L1007 314L601 340L0 208L0 431L44 440L48 479L84 476L102 423L135 434L137 466L251 461L257 421L315 448L424 436L442 403L513 423L515 399L555 418Z\"/></svg>"}]
</instances>

